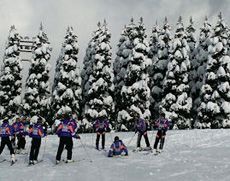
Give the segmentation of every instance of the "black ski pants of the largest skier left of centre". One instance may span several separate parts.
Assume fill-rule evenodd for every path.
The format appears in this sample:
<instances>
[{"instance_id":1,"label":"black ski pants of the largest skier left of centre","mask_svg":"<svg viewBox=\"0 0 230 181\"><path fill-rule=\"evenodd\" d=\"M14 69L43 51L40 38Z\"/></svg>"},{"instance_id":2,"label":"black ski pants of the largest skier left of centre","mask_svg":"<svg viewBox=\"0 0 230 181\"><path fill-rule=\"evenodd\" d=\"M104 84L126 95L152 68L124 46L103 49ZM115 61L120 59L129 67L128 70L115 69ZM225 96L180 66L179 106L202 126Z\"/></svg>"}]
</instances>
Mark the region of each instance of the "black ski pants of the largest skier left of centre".
<instances>
[{"instance_id":1,"label":"black ski pants of the largest skier left of centre","mask_svg":"<svg viewBox=\"0 0 230 181\"><path fill-rule=\"evenodd\" d=\"M73 139L72 137L63 136L60 137L56 160L61 160L61 154L63 152L64 147L67 150L67 160L72 159Z\"/></svg>"}]
</instances>

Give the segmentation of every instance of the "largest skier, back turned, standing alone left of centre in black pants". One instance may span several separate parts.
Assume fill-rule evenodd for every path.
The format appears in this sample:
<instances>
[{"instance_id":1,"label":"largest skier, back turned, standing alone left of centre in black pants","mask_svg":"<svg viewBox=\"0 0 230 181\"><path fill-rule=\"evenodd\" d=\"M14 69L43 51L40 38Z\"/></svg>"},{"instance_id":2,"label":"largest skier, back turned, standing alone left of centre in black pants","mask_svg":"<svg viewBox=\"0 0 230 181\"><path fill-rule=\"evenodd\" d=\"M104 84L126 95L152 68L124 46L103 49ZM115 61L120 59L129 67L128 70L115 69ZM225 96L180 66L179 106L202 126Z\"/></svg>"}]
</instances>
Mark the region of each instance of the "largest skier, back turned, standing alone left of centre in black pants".
<instances>
[{"instance_id":1,"label":"largest skier, back turned, standing alone left of centre in black pants","mask_svg":"<svg viewBox=\"0 0 230 181\"><path fill-rule=\"evenodd\" d=\"M76 135L75 129L77 124L74 120L71 120L70 114L65 114L64 119L61 120L61 123L58 125L56 134L60 137L58 151L56 155L56 164L61 160L61 154L64 147L67 149L67 160L66 163L72 162L72 149L73 149L73 137L79 138Z\"/></svg>"}]
</instances>

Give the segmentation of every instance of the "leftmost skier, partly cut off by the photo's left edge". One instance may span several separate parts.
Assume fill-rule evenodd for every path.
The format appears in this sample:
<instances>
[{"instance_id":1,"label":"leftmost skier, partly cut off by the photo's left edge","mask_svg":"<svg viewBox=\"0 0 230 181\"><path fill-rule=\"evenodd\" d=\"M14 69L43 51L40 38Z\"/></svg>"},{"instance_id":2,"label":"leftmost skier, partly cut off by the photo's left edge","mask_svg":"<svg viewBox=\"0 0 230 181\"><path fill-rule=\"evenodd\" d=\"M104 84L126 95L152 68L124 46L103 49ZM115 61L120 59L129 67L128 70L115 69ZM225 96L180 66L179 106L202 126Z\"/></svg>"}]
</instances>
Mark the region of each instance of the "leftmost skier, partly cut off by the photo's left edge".
<instances>
[{"instance_id":1,"label":"leftmost skier, partly cut off by the photo's left edge","mask_svg":"<svg viewBox=\"0 0 230 181\"><path fill-rule=\"evenodd\" d=\"M7 145L11 154L11 163L13 164L15 163L15 154L9 138L10 136L12 136L12 127L9 125L8 118L5 118L3 120L3 124L0 126L0 137L2 138L0 146L0 155L5 145Z\"/></svg>"}]
</instances>

